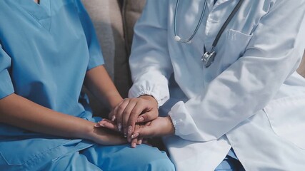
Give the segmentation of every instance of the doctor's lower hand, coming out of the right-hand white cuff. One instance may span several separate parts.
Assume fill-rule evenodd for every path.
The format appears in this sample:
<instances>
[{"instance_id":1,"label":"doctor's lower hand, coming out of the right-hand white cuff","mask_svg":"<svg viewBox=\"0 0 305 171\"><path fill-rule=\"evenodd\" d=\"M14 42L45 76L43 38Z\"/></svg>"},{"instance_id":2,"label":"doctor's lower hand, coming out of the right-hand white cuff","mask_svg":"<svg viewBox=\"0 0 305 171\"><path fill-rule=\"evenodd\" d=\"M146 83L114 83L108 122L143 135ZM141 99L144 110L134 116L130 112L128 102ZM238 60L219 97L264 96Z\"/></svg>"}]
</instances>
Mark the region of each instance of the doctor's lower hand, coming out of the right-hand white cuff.
<instances>
[{"instance_id":1,"label":"doctor's lower hand, coming out of the right-hand white cuff","mask_svg":"<svg viewBox=\"0 0 305 171\"><path fill-rule=\"evenodd\" d=\"M169 116L158 117L155 120L152 120L151 123L144 128L135 130L131 135L131 139L173 135L174 133L175 128L171 122L171 118Z\"/></svg>"}]
</instances>

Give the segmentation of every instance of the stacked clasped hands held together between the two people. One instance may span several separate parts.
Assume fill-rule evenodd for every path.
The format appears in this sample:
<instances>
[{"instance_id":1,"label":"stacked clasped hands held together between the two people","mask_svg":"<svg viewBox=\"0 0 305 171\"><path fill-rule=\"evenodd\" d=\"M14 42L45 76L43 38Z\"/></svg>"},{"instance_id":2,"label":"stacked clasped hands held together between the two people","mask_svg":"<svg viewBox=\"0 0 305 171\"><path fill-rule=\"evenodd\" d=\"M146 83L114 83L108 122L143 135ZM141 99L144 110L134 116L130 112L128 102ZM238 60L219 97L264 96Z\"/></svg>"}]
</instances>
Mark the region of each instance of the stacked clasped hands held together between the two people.
<instances>
[{"instance_id":1,"label":"stacked clasped hands held together between the two people","mask_svg":"<svg viewBox=\"0 0 305 171\"><path fill-rule=\"evenodd\" d=\"M131 147L136 147L143 138L174 133L171 119L158 115L158 103L152 96L126 98L109 113L109 119L101 120L96 126L122 133Z\"/></svg>"}]
</instances>

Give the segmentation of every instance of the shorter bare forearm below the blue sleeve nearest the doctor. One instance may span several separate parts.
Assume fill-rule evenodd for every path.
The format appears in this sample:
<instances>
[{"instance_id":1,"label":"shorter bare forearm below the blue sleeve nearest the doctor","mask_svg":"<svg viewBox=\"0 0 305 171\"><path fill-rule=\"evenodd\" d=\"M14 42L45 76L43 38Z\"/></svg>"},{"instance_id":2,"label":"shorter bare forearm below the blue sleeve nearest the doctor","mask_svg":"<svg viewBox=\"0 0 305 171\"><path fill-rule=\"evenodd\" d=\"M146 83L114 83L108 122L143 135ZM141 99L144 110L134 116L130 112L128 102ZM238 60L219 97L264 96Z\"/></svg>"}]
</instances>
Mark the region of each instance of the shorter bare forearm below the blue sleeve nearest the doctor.
<instances>
[{"instance_id":1,"label":"shorter bare forearm below the blue sleeve nearest the doctor","mask_svg":"<svg viewBox=\"0 0 305 171\"><path fill-rule=\"evenodd\" d=\"M105 99L110 108L114 108L122 100L104 66L87 71L84 84L100 102Z\"/></svg>"}]
</instances>

